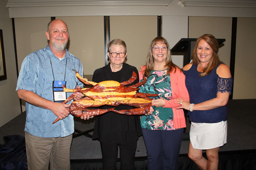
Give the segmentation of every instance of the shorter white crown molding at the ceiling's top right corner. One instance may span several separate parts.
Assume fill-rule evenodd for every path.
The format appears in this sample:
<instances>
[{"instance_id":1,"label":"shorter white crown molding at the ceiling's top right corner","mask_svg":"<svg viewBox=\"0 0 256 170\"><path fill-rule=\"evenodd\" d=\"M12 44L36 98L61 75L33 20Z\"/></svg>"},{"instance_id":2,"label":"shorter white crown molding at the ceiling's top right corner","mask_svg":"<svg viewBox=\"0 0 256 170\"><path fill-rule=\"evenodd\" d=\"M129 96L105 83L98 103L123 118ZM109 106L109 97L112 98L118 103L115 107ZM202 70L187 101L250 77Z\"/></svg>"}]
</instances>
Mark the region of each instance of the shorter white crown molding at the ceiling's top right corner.
<instances>
[{"instance_id":1,"label":"shorter white crown molding at the ceiling's top right corner","mask_svg":"<svg viewBox=\"0 0 256 170\"><path fill-rule=\"evenodd\" d=\"M255 0L180 0L183 6L256 8Z\"/></svg>"}]
</instances>

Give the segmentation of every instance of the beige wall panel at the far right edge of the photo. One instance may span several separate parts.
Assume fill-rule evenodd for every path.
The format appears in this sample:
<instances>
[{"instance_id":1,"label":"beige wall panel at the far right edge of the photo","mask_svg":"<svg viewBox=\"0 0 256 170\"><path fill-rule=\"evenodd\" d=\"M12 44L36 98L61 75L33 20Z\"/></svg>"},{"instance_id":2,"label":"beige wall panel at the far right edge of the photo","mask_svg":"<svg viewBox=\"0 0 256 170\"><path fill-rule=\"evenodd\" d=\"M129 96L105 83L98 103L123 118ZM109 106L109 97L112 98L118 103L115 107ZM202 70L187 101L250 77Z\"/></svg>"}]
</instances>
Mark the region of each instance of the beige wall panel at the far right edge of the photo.
<instances>
[{"instance_id":1,"label":"beige wall panel at the far right edge of the photo","mask_svg":"<svg viewBox=\"0 0 256 170\"><path fill-rule=\"evenodd\" d=\"M256 18L237 18L233 99L256 98L255 31Z\"/></svg>"}]
</instances>

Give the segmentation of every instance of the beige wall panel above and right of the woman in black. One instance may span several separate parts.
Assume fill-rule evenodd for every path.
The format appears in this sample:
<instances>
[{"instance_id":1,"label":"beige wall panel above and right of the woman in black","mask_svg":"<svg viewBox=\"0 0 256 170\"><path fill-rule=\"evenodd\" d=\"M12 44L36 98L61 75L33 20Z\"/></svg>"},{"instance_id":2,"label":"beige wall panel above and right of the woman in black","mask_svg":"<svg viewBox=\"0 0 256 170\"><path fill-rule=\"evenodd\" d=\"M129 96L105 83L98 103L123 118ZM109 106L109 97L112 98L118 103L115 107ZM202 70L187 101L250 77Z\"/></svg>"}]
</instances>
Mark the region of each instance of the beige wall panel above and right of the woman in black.
<instances>
[{"instance_id":1,"label":"beige wall panel above and right of the woman in black","mask_svg":"<svg viewBox=\"0 0 256 170\"><path fill-rule=\"evenodd\" d=\"M110 41L124 40L127 64L137 70L146 63L150 42L157 36L157 16L110 16Z\"/></svg>"}]
</instances>

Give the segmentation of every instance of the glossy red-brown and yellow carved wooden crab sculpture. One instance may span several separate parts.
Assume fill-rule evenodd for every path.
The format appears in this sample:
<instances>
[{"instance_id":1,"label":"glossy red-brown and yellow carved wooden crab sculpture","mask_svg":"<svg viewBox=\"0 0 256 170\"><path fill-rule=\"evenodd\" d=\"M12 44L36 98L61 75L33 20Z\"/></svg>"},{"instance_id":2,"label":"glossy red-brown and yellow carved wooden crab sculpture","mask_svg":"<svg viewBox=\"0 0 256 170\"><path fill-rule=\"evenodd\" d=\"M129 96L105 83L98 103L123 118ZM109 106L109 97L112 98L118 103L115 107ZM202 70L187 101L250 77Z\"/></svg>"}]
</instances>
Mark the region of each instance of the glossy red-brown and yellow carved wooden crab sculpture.
<instances>
[{"instance_id":1,"label":"glossy red-brown and yellow carved wooden crab sculpture","mask_svg":"<svg viewBox=\"0 0 256 170\"><path fill-rule=\"evenodd\" d=\"M146 83L146 78L143 76L143 81L136 83L132 86L126 87L133 83L137 74L133 71L132 77L125 82L117 81L102 81L100 83L95 83L83 79L79 73L76 71L77 78L86 85L92 85L91 88L80 88L80 89L66 89L63 85L63 90L65 92L81 92L86 97L81 100L73 101L68 108L70 114L76 117L86 117L101 115L107 112L115 112L124 115L144 115L149 112L151 106L151 100L149 97L158 96L157 94L149 93L139 93L137 90L139 86ZM67 103L75 97L72 94L63 103ZM90 109L91 107L100 107L103 105L108 106L118 106L119 104L134 106L137 108L127 109L127 110L115 110L115 108L110 109ZM53 123L59 121L57 118Z\"/></svg>"}]
</instances>

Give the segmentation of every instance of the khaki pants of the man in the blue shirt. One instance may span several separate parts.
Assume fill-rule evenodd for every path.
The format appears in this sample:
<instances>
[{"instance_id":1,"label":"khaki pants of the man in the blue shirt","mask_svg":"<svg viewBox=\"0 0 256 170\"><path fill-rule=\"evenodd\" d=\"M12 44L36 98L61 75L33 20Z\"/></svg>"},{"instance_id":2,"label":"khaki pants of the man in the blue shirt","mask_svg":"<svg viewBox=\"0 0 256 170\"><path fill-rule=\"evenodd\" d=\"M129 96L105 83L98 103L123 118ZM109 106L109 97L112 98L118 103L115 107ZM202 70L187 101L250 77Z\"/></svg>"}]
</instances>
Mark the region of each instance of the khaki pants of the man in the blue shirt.
<instances>
[{"instance_id":1,"label":"khaki pants of the man in the blue shirt","mask_svg":"<svg viewBox=\"0 0 256 170\"><path fill-rule=\"evenodd\" d=\"M28 170L70 170L72 135L42 138L25 131Z\"/></svg>"}]
</instances>

